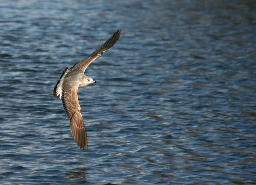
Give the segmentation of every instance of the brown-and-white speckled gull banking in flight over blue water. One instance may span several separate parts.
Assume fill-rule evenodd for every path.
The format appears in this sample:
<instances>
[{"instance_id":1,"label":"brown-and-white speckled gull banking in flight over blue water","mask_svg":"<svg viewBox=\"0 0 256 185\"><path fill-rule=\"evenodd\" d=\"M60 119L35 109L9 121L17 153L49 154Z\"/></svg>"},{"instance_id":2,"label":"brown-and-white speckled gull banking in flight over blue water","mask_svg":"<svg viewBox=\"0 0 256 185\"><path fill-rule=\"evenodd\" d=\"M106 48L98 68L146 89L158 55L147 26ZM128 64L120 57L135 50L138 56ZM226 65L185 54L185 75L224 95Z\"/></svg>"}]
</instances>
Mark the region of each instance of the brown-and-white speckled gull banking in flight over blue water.
<instances>
[{"instance_id":1,"label":"brown-and-white speckled gull banking in flight over blue water","mask_svg":"<svg viewBox=\"0 0 256 185\"><path fill-rule=\"evenodd\" d=\"M77 96L78 88L96 83L91 77L84 75L84 71L93 60L101 56L116 43L120 37L121 31L121 29L117 30L109 40L96 49L90 56L76 63L70 69L65 68L61 74L60 80L58 80L54 87L52 97L56 98L59 96L59 100L62 98L63 107L70 120L72 137L80 150L84 150L84 147L87 150L87 134Z\"/></svg>"}]
</instances>

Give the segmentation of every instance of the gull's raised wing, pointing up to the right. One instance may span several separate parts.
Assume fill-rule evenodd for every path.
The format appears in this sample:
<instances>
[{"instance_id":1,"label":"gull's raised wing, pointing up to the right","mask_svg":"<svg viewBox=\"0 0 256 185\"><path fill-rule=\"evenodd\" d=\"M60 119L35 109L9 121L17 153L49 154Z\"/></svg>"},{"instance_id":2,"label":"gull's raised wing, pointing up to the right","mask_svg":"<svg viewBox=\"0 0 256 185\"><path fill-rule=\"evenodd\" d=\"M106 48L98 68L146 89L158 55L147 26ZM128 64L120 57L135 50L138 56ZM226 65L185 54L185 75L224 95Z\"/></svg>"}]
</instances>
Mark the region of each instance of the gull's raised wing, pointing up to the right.
<instances>
[{"instance_id":1,"label":"gull's raised wing, pointing up to the right","mask_svg":"<svg viewBox=\"0 0 256 185\"><path fill-rule=\"evenodd\" d=\"M117 30L116 33L114 33L109 40L107 40L104 44L102 44L102 46L96 49L90 56L76 63L70 70L73 71L75 69L81 69L82 71L85 71L88 65L90 65L90 63L93 62L93 60L101 56L105 51L107 51L116 43L116 41L120 37L121 31L122 31L121 29Z\"/></svg>"}]
</instances>

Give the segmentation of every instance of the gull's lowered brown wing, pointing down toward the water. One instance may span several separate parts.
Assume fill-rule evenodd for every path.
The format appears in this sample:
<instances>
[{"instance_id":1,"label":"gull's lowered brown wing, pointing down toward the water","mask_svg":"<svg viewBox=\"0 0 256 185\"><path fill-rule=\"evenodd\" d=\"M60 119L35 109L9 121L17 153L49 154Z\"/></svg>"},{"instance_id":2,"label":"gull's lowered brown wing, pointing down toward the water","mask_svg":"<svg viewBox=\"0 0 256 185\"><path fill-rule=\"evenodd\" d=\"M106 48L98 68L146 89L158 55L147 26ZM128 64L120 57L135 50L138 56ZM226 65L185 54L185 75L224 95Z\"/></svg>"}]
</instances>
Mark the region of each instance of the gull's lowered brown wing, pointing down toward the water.
<instances>
[{"instance_id":1,"label":"gull's lowered brown wing, pointing down toward the water","mask_svg":"<svg viewBox=\"0 0 256 185\"><path fill-rule=\"evenodd\" d=\"M70 129L72 136L80 149L87 149L87 134L84 126L84 120L81 114L77 96L78 86L72 88L62 88L62 103L70 119Z\"/></svg>"}]
</instances>

